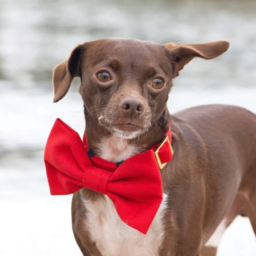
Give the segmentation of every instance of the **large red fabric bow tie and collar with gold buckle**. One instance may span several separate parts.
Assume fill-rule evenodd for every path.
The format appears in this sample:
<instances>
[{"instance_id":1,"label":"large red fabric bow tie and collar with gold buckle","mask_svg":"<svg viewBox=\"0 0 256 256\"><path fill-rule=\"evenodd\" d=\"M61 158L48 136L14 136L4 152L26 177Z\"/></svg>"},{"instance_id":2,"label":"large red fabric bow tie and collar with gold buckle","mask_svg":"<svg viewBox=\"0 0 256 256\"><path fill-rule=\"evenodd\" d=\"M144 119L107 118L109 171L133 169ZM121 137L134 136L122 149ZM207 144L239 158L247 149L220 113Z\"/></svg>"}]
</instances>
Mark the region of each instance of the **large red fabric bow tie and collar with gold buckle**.
<instances>
[{"instance_id":1,"label":"large red fabric bow tie and collar with gold buckle","mask_svg":"<svg viewBox=\"0 0 256 256\"><path fill-rule=\"evenodd\" d=\"M146 234L163 198L159 168L172 160L170 130L160 146L121 164L91 153L76 131L55 121L44 151L51 194L72 194L83 187L105 194L127 225Z\"/></svg>"}]
</instances>

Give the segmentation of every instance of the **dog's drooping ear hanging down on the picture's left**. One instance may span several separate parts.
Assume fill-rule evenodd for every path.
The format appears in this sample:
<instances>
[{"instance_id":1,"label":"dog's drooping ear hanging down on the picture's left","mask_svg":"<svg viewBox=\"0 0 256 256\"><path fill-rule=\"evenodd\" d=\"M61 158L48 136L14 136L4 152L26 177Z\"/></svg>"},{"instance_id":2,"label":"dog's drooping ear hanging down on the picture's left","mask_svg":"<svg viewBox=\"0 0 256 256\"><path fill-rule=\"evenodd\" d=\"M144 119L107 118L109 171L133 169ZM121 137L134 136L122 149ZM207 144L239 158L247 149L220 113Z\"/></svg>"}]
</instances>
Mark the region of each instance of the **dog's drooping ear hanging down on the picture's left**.
<instances>
[{"instance_id":1,"label":"dog's drooping ear hanging down on the picture's left","mask_svg":"<svg viewBox=\"0 0 256 256\"><path fill-rule=\"evenodd\" d=\"M68 60L57 65L53 69L53 102L61 100L75 77L81 77L81 55L84 45L79 44L73 49Z\"/></svg>"}]
</instances>

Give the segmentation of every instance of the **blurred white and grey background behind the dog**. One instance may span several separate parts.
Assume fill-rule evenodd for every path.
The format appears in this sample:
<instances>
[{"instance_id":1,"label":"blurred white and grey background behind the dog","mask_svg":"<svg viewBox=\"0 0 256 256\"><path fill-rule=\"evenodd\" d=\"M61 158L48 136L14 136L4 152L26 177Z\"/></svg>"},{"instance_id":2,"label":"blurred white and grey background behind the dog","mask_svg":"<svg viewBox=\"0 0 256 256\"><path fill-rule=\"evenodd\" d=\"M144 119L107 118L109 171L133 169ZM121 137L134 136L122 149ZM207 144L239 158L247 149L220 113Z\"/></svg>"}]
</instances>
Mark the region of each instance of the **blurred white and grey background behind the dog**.
<instances>
[{"instance_id":1,"label":"blurred white and grey background behind the dog","mask_svg":"<svg viewBox=\"0 0 256 256\"><path fill-rule=\"evenodd\" d=\"M71 229L71 196L50 196L43 163L57 117L84 131L78 80L52 103L52 70L76 44L102 37L161 44L229 40L221 57L184 68L169 110L225 103L256 113L255 27L254 0L1 0L0 255L81 255ZM218 256L227 255L256 255L246 218L226 231Z\"/></svg>"}]
</instances>

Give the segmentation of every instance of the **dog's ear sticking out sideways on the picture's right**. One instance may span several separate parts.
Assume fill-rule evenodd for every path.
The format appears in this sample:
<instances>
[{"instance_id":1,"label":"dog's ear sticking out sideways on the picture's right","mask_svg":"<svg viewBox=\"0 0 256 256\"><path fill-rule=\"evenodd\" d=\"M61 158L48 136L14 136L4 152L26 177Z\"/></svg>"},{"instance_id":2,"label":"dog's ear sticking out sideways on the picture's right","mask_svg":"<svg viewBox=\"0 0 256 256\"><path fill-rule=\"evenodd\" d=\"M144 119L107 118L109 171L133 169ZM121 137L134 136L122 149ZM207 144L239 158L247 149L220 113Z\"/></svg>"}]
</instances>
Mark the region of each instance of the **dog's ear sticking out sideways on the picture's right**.
<instances>
[{"instance_id":1,"label":"dog's ear sticking out sideways on the picture's right","mask_svg":"<svg viewBox=\"0 0 256 256\"><path fill-rule=\"evenodd\" d=\"M179 71L194 57L200 57L205 60L214 59L229 49L229 42L216 41L202 44L168 43L165 47L172 54L172 58L175 61L175 77L177 77Z\"/></svg>"}]
</instances>

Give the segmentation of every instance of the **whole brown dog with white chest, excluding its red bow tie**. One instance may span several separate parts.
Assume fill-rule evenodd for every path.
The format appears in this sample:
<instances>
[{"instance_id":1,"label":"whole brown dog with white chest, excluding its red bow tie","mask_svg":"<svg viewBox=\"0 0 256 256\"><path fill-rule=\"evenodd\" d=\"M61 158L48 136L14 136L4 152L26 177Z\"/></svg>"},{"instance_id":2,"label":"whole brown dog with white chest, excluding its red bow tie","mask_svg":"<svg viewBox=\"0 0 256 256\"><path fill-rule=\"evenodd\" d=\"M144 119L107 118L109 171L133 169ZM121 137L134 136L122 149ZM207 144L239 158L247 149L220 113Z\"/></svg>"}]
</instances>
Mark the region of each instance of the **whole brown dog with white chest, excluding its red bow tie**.
<instances>
[{"instance_id":1,"label":"whole brown dog with white chest, excluding its red bow tie","mask_svg":"<svg viewBox=\"0 0 256 256\"><path fill-rule=\"evenodd\" d=\"M170 115L172 80L194 57L213 59L226 41L159 45L101 39L78 45L53 72L54 102L81 78L91 151L112 162L149 149L171 124L174 156L162 170L163 201L146 235L118 217L110 199L86 188L73 196L72 224L83 255L216 255L237 215L256 233L256 116L205 105Z\"/></svg>"}]
</instances>

